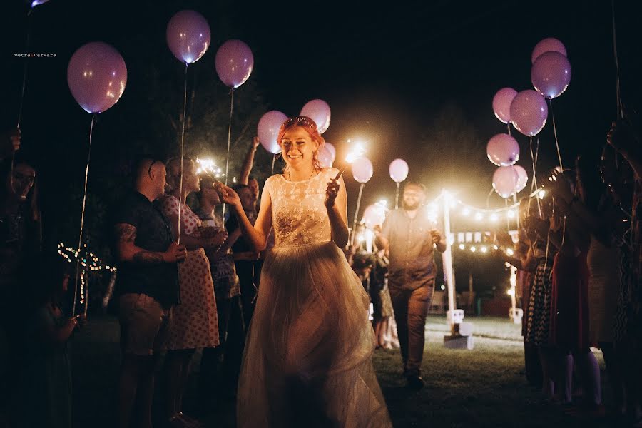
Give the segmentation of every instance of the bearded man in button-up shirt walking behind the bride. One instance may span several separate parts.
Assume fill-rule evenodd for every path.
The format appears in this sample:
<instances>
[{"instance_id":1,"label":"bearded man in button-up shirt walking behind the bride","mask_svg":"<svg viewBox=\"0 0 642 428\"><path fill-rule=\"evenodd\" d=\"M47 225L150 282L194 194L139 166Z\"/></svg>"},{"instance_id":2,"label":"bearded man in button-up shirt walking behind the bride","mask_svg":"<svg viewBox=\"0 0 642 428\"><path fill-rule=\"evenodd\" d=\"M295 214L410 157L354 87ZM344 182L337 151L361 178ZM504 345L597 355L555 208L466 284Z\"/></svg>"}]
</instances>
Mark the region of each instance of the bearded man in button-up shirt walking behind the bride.
<instances>
[{"instance_id":1,"label":"bearded man in button-up shirt walking behind the bride","mask_svg":"<svg viewBox=\"0 0 642 428\"><path fill-rule=\"evenodd\" d=\"M397 322L404 362L404 377L412 389L424 387L421 365L425 325L434 292L437 265L434 248L446 250L446 242L421 208L426 188L420 183L404 186L402 208L389 213L381 242L389 251L388 289Z\"/></svg>"}]
</instances>

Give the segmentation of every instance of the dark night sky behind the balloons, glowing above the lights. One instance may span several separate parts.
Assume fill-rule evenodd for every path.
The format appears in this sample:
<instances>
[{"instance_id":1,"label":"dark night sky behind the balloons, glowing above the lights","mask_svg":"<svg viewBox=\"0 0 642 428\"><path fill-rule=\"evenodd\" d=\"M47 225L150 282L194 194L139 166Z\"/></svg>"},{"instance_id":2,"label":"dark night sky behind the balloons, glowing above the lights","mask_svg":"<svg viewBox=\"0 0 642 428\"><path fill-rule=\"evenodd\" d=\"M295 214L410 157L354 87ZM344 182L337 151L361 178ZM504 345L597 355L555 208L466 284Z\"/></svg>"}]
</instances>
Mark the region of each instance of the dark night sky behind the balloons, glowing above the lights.
<instances>
[{"instance_id":1,"label":"dark night sky behind the balloons, glowing above the lights","mask_svg":"<svg viewBox=\"0 0 642 428\"><path fill-rule=\"evenodd\" d=\"M55 53L56 58L29 62L22 129L24 151L36 157L41 183L46 183L45 218L48 211L50 218L64 218L79 209L66 203L71 183L83 177L91 116L68 91L71 54L88 41L105 41L128 66L123 98L101 114L95 131L92 162L109 165L113 153L123 153L131 144L129 129L145 129L148 121L160 120L151 113L154 101L146 96L148 81L140 72L146 64L175 73L175 86L166 90L177 100L182 95L182 68L166 46L165 26L183 9L199 11L212 30L210 49L190 66L201 81L218 81L216 49L225 40L241 39L255 56L248 83L255 85L268 110L292 115L313 98L329 103L332 121L325 138L339 151L335 165L345 156L347 138L368 141L374 177L365 188L365 205L381 197L392 202L394 183L387 170L394 158L404 158L411 176L423 180L431 195L448 187L467 202L484 205L495 168L486 159L486 142L506 131L494 117L492 97L504 86L531 88L531 50L546 37L565 44L573 67L569 88L553 101L564 163L571 165L577 154L596 153L603 145L616 118L611 1L350 3L51 0L37 6L29 51ZM642 19L635 3L615 1L622 97L637 110L642 100ZM27 9L20 1L4 9L11 48L4 54L10 73L4 78L8 91L1 111L8 128L15 124L19 105L24 59L14 54L24 52ZM223 83L218 84L224 91ZM439 119L444 111L457 112L445 115L454 120ZM128 125L116 133L114 128L123 123ZM469 141L453 138L446 147L434 146L436 123L446 129L442 140L463 135ZM248 132L241 144L249 144L255 123ZM528 138L517 131L513 135L521 144L519 164L528 170ZM540 136L538 169L544 171L556 162L550 118ZM468 149L459 150L463 146ZM265 161L267 154L258 156ZM96 173L109 170L98 166ZM352 218L357 183L350 176L346 181ZM495 196L491 205L504 203ZM51 222L49 226L51 230Z\"/></svg>"}]
</instances>

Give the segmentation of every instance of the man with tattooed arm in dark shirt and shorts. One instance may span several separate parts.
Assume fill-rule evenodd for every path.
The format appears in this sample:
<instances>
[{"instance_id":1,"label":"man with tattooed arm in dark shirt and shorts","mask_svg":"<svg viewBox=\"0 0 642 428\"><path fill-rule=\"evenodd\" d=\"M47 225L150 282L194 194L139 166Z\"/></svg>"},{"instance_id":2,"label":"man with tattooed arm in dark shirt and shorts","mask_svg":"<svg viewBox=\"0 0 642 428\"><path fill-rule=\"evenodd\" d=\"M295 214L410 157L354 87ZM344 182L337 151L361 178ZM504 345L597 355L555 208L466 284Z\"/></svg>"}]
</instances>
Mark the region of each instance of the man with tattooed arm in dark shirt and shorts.
<instances>
[{"instance_id":1,"label":"man with tattooed arm in dark shirt and shorts","mask_svg":"<svg viewBox=\"0 0 642 428\"><path fill-rule=\"evenodd\" d=\"M165 190L165 163L141 156L133 165L133 190L113 214L118 263L118 321L123 358L118 385L118 427L151 427L156 356L163 349L173 307L180 302L177 262L185 247L154 204Z\"/></svg>"}]
</instances>

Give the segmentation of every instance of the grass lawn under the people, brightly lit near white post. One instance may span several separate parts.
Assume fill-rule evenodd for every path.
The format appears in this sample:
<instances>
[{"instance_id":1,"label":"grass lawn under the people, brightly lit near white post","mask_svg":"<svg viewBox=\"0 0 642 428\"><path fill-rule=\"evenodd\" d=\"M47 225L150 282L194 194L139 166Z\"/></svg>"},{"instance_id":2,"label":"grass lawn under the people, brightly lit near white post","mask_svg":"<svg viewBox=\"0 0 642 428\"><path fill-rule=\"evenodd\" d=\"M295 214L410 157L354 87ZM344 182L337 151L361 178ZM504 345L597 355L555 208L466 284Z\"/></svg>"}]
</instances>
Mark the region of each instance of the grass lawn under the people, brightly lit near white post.
<instances>
[{"instance_id":1,"label":"grass lawn under the people, brightly lit near white post","mask_svg":"<svg viewBox=\"0 0 642 428\"><path fill-rule=\"evenodd\" d=\"M519 325L507 317L467 317L466 321L474 324L474 350L447 350L445 317L429 317L422 367L427 387L420 392L404 387L399 350L375 352L374 368L395 427L614 426L606 419L571 417L551 404L541 404L539 391L520 374L524 352ZM118 321L93 317L73 340L72 357L76 427L115 427ZM608 389L603 393L608 405ZM190 388L185 397L188 413L194 401L194 388ZM159 408L157 402L157 419ZM234 427L234 412L233 400L223 401L201 420L206 427Z\"/></svg>"}]
</instances>

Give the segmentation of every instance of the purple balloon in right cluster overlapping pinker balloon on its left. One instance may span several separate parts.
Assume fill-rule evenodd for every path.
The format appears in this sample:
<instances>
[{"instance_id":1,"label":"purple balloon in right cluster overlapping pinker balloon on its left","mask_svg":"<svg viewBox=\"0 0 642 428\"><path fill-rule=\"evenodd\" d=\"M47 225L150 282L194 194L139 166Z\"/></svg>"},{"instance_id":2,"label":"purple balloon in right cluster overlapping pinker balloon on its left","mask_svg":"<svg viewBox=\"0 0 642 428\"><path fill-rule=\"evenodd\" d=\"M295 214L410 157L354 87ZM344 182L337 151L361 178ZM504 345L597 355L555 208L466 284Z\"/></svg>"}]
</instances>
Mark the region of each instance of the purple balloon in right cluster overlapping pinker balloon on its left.
<instances>
[{"instance_id":1,"label":"purple balloon in right cluster overlapping pinker balloon on its left","mask_svg":"<svg viewBox=\"0 0 642 428\"><path fill-rule=\"evenodd\" d=\"M511 123L525 136L535 136L546 125L549 108L546 100L533 89L517 93L511 103Z\"/></svg>"}]
</instances>

